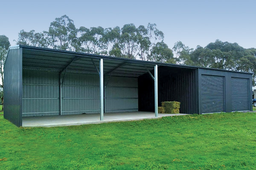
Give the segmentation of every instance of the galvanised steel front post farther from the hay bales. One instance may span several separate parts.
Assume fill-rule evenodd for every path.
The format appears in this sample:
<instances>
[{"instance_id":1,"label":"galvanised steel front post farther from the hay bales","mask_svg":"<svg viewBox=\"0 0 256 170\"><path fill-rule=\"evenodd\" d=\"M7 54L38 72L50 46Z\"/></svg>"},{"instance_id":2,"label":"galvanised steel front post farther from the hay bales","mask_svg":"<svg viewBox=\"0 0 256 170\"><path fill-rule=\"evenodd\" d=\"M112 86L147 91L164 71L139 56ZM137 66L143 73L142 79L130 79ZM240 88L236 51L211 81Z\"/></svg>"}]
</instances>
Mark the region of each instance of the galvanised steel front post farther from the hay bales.
<instances>
[{"instance_id":1,"label":"galvanised steel front post farther from the hay bales","mask_svg":"<svg viewBox=\"0 0 256 170\"><path fill-rule=\"evenodd\" d=\"M99 84L100 84L100 120L103 120L104 113L104 84L103 84L103 59L99 61Z\"/></svg>"}]
</instances>

